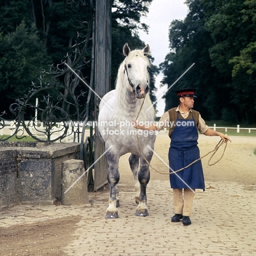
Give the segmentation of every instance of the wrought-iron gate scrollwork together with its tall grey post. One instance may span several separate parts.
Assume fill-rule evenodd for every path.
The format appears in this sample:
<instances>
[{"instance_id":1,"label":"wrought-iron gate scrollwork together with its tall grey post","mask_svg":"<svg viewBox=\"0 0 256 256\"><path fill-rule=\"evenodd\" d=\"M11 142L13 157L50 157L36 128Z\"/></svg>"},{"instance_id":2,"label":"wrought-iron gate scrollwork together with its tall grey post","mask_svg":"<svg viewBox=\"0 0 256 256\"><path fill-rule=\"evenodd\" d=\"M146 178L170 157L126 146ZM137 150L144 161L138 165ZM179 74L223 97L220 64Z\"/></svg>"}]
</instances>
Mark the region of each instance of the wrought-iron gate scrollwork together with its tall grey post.
<instances>
[{"instance_id":1,"label":"wrought-iron gate scrollwork together with its tall grey post","mask_svg":"<svg viewBox=\"0 0 256 256\"><path fill-rule=\"evenodd\" d=\"M85 4L88 1L81 2ZM62 142L73 134L73 141L80 142L80 159L84 160L85 170L88 170L88 185L94 183L95 191L107 183L107 161L102 156L104 147L97 126L94 127L94 133L88 122L92 124L97 120L100 99L110 90L111 4L112 0L90 0L90 20L85 22L88 26L86 36L78 34L72 53L67 54L59 65L52 65L49 71L40 72L39 84L32 83L28 94L11 104L9 110L14 119L5 119L5 113L0 114L2 141L13 136L23 138L28 135L38 142ZM82 69L88 64L84 60L84 53L91 39L91 75L90 83L87 84ZM65 81L65 85L59 83L59 79ZM81 83L86 85L85 90L81 89ZM94 94L94 90L100 98ZM60 91L62 93L56 97L56 92ZM37 98L39 101L36 101ZM86 103L83 103L85 98ZM28 110L37 114L25 121ZM1 130L10 122L13 132L4 137ZM88 127L90 135L85 136Z\"/></svg>"}]
</instances>

